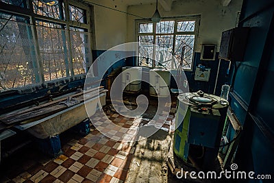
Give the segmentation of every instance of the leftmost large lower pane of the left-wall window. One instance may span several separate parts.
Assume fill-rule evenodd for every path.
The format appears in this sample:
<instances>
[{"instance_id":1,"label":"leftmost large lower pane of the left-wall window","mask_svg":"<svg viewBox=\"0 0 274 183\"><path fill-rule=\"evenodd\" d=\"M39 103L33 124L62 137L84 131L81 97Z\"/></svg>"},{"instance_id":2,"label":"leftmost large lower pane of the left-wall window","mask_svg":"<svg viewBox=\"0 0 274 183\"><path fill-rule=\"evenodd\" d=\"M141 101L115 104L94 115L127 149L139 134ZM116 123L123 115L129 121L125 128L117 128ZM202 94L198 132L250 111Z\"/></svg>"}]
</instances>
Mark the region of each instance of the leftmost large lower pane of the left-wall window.
<instances>
[{"instance_id":1,"label":"leftmost large lower pane of the left-wall window","mask_svg":"<svg viewBox=\"0 0 274 183\"><path fill-rule=\"evenodd\" d=\"M30 26L25 21L27 17L0 13L0 88L3 90L36 82L36 60L29 51L34 41L28 36Z\"/></svg>"}]
</instances>

